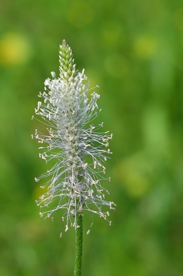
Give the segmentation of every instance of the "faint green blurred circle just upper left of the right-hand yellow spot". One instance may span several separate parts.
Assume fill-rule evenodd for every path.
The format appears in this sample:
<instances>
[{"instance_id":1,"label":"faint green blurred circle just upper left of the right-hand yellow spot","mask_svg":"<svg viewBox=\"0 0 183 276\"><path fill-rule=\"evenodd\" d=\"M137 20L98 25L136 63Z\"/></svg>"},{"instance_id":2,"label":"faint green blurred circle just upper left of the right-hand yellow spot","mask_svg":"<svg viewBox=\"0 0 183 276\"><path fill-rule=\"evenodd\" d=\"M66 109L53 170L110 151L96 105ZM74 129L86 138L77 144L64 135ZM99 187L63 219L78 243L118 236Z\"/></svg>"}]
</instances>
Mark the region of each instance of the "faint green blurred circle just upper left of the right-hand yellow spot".
<instances>
[{"instance_id":1,"label":"faint green blurred circle just upper left of the right-hand yellow spot","mask_svg":"<svg viewBox=\"0 0 183 276\"><path fill-rule=\"evenodd\" d=\"M121 25L115 21L105 23L105 26L102 28L102 37L107 45L111 47L118 46L118 43L122 38Z\"/></svg>"}]
</instances>

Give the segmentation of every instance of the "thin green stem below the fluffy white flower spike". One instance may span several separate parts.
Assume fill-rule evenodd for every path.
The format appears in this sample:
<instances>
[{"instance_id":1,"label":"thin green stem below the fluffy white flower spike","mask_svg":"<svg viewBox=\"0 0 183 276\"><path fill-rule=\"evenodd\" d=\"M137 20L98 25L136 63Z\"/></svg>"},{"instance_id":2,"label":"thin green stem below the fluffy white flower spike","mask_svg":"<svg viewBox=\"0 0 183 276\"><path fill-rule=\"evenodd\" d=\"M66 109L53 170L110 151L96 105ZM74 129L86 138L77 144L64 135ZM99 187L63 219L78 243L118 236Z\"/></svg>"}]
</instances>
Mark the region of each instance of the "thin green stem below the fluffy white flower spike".
<instances>
[{"instance_id":1,"label":"thin green stem below the fluffy white flower spike","mask_svg":"<svg viewBox=\"0 0 183 276\"><path fill-rule=\"evenodd\" d=\"M77 225L76 228L76 255L74 265L74 276L81 275L81 263L82 263L82 249L83 249L83 215L81 213L76 215Z\"/></svg>"}]
</instances>

